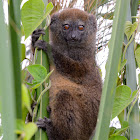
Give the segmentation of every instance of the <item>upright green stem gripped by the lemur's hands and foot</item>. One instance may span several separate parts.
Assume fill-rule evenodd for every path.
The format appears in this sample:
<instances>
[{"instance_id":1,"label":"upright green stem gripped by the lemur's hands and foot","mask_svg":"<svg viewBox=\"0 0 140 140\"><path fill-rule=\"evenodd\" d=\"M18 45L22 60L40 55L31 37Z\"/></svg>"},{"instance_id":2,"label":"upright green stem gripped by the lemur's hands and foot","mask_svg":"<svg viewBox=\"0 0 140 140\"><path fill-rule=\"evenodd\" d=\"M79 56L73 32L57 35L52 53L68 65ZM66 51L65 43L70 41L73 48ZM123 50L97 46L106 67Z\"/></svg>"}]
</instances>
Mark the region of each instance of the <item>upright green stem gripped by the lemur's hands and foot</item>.
<instances>
[{"instance_id":1,"label":"upright green stem gripped by the lemur's hands and foot","mask_svg":"<svg viewBox=\"0 0 140 140\"><path fill-rule=\"evenodd\" d=\"M43 1L44 1L45 6L46 6L48 4L48 1L47 0L43 0ZM46 24L46 22L44 21L42 27L44 27L45 24ZM46 35L43 36L43 39L48 42L49 41L49 31L48 31L48 29L45 30L45 33L46 33ZM42 64L47 69L47 72L49 72L48 56L42 50L38 51L37 53L38 53L38 56L37 56L36 63ZM49 81L47 80L47 82L49 82ZM41 87L41 88L37 89L37 98L39 98L39 96L40 96L40 94L43 90L43 87ZM39 107L39 110L38 110L37 118L42 118L44 116L47 116L47 117L49 116L48 112L46 110L48 104L49 104L49 91L47 90L47 92L43 95L43 98L41 97L40 107ZM48 138L47 138L46 132L42 131L41 129L35 135L35 140L47 140L47 139Z\"/></svg>"}]
</instances>

